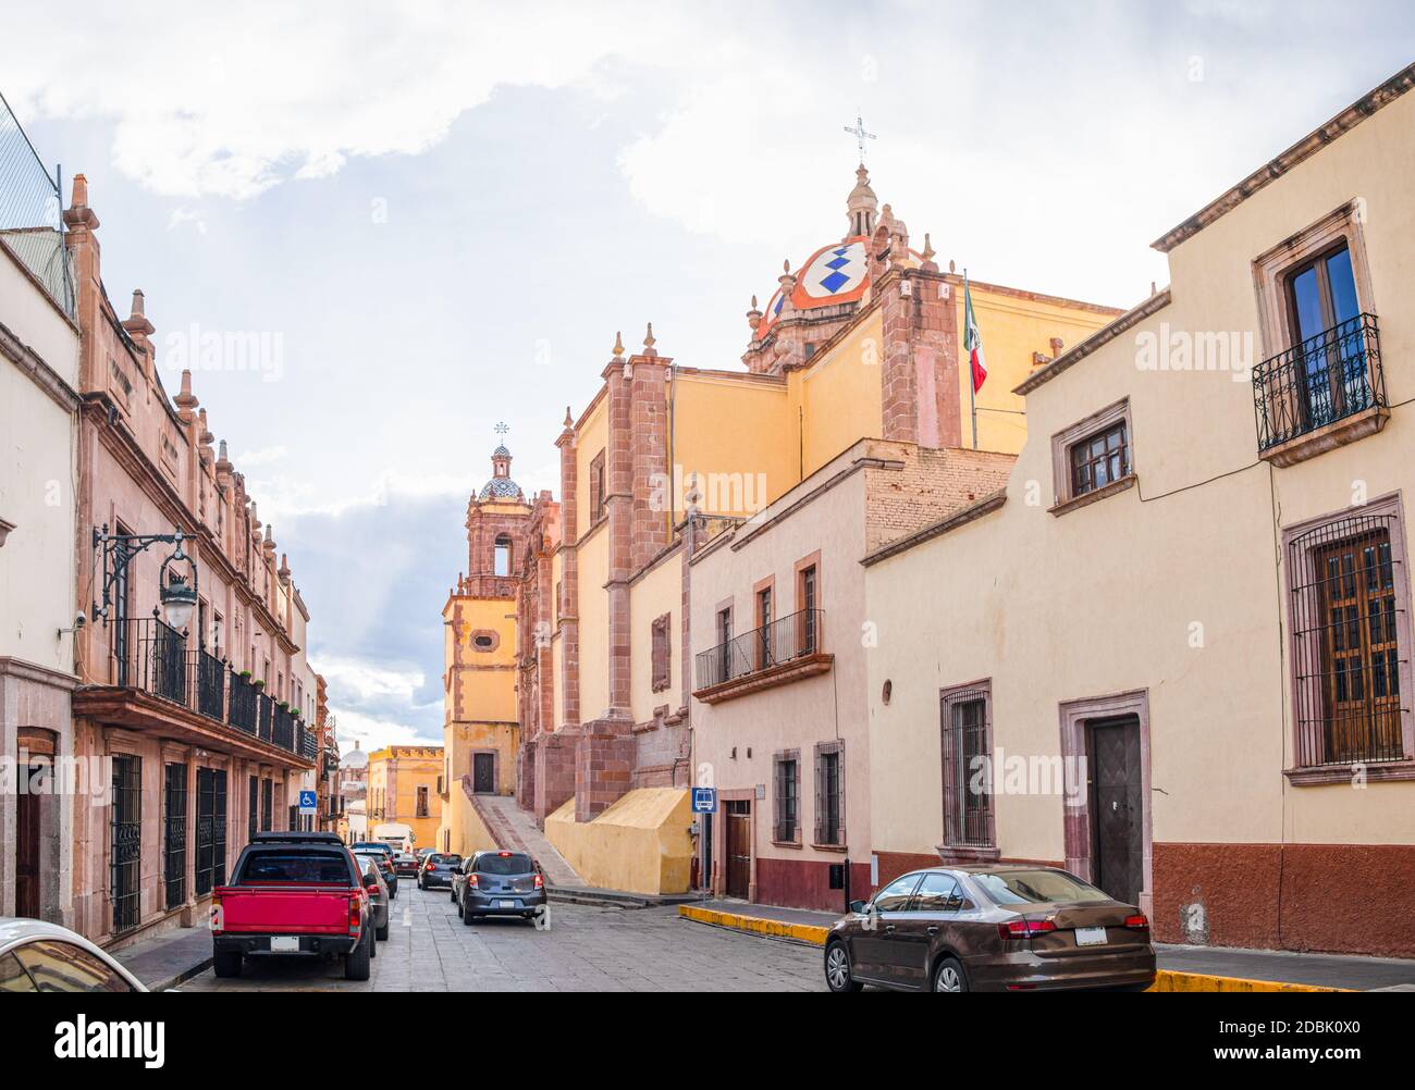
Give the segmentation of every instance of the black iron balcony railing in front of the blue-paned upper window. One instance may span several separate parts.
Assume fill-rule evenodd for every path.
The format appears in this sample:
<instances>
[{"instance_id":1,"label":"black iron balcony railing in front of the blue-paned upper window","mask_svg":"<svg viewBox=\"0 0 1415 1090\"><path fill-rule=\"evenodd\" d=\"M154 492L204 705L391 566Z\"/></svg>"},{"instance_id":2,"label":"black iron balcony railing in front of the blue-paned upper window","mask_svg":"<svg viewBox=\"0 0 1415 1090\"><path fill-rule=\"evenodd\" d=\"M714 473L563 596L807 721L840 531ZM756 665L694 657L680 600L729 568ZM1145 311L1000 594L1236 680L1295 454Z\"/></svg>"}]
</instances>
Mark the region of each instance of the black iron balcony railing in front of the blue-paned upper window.
<instances>
[{"instance_id":1,"label":"black iron balcony railing in front of the blue-paned upper window","mask_svg":"<svg viewBox=\"0 0 1415 1090\"><path fill-rule=\"evenodd\" d=\"M1252 372L1258 451L1266 451L1367 409L1385 409L1380 331L1358 314Z\"/></svg>"}]
</instances>

